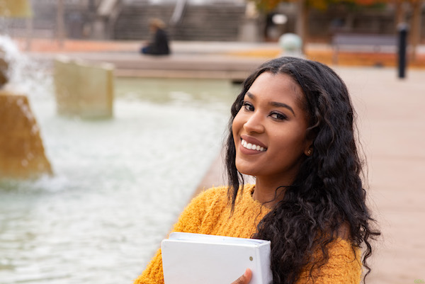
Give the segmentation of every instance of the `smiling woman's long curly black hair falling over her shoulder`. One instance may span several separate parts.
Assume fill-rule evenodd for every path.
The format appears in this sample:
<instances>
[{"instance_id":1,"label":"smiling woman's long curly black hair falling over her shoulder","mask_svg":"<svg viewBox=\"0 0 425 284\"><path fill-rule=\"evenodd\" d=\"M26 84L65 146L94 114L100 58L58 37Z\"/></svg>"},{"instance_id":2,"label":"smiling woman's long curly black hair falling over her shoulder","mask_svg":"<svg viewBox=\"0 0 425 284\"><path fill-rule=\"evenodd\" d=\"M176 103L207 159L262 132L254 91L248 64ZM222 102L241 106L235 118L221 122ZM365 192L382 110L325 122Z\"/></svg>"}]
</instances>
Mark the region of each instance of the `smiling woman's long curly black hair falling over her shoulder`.
<instances>
[{"instance_id":1,"label":"smiling woman's long curly black hair falling over her shoulder","mask_svg":"<svg viewBox=\"0 0 425 284\"><path fill-rule=\"evenodd\" d=\"M262 64L243 84L234 101L229 121L225 164L232 208L244 185L235 165L232 122L242 107L246 91L263 72L287 74L300 85L305 96L305 111L312 138L312 155L305 157L291 185L257 226L252 237L271 241L273 283L296 283L303 268L319 268L329 259L328 244L348 231L353 250L363 248L365 276L370 272L367 259L372 254L371 239L380 235L365 204L363 163L356 146L355 112L344 81L319 62L295 57L280 57ZM276 192L278 189L276 189ZM312 259L315 251L322 258Z\"/></svg>"}]
</instances>

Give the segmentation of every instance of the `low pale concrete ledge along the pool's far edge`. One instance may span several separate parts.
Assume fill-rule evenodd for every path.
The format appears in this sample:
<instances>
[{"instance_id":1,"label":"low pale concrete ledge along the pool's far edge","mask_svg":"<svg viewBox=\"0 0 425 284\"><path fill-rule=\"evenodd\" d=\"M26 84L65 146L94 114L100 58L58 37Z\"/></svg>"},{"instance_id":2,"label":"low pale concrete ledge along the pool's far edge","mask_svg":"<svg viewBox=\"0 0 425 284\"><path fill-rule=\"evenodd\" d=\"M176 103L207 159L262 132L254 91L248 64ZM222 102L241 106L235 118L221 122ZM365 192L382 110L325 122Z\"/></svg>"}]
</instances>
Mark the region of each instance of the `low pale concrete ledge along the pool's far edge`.
<instances>
[{"instance_id":1,"label":"low pale concrete ledge along the pool's far edge","mask_svg":"<svg viewBox=\"0 0 425 284\"><path fill-rule=\"evenodd\" d=\"M37 54L33 59L52 62L54 55ZM231 55L170 55L153 57L137 53L75 53L67 54L71 60L84 60L91 64L108 62L115 67L115 76L245 79L265 62L266 58L246 58Z\"/></svg>"}]
</instances>

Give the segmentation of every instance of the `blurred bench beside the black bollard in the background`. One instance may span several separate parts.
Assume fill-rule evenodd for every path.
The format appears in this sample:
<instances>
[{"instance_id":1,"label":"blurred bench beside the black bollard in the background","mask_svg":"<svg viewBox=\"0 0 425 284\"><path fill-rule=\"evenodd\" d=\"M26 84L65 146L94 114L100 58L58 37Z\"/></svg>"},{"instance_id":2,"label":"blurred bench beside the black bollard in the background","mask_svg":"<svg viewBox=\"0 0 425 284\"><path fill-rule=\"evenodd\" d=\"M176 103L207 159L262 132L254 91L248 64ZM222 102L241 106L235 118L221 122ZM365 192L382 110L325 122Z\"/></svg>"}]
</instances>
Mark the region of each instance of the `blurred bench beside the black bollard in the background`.
<instances>
[{"instance_id":1,"label":"blurred bench beside the black bollard in the background","mask_svg":"<svg viewBox=\"0 0 425 284\"><path fill-rule=\"evenodd\" d=\"M397 47L395 35L373 35L373 34L335 34L332 37L333 55L332 62L338 64L338 53L341 50L353 50L353 47L361 47L361 50L372 50L380 52L382 47Z\"/></svg>"}]
</instances>

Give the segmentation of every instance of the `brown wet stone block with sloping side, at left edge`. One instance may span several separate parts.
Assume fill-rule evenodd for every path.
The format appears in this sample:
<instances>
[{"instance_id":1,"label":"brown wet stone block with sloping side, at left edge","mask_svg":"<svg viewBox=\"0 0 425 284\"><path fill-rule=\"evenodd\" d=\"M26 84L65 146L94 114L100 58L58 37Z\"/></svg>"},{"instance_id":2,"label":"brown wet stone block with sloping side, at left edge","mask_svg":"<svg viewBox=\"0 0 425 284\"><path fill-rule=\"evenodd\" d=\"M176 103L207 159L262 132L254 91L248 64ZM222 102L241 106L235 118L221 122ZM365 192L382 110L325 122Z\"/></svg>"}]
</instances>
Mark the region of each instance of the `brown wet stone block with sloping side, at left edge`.
<instances>
[{"instance_id":1,"label":"brown wet stone block with sloping side, at left edge","mask_svg":"<svg viewBox=\"0 0 425 284\"><path fill-rule=\"evenodd\" d=\"M28 98L0 91L0 178L52 174Z\"/></svg>"}]
</instances>

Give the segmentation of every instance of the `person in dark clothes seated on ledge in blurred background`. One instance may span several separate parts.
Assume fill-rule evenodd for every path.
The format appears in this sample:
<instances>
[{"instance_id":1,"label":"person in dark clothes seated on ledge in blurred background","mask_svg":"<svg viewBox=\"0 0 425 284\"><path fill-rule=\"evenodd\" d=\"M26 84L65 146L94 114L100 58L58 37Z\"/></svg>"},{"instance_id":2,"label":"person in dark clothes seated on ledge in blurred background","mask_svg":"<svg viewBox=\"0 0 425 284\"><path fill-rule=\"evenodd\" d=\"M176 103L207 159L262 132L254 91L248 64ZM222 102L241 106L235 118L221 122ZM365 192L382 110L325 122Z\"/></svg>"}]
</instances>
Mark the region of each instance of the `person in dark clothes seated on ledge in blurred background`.
<instances>
[{"instance_id":1,"label":"person in dark clothes seated on ledge in blurred background","mask_svg":"<svg viewBox=\"0 0 425 284\"><path fill-rule=\"evenodd\" d=\"M164 30L165 23L159 18L153 18L149 22L149 28L153 39L140 49L140 53L145 55L169 55L169 39Z\"/></svg>"}]
</instances>

